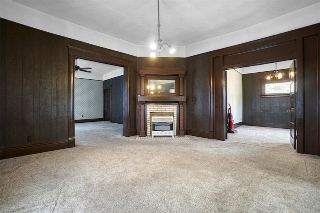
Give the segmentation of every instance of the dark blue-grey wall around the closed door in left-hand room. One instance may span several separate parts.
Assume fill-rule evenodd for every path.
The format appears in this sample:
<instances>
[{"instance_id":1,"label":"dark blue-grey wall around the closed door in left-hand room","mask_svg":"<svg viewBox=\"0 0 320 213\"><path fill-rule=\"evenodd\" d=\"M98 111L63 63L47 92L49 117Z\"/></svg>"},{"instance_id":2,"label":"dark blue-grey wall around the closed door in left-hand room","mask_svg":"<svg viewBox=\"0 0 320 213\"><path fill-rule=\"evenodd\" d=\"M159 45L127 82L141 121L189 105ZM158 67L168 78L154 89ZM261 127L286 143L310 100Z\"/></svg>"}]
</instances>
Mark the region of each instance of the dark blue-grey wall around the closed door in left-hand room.
<instances>
[{"instance_id":1,"label":"dark blue-grey wall around the closed door in left-hand room","mask_svg":"<svg viewBox=\"0 0 320 213\"><path fill-rule=\"evenodd\" d=\"M123 75L103 81L103 89L111 87L111 122L123 124Z\"/></svg>"}]
</instances>

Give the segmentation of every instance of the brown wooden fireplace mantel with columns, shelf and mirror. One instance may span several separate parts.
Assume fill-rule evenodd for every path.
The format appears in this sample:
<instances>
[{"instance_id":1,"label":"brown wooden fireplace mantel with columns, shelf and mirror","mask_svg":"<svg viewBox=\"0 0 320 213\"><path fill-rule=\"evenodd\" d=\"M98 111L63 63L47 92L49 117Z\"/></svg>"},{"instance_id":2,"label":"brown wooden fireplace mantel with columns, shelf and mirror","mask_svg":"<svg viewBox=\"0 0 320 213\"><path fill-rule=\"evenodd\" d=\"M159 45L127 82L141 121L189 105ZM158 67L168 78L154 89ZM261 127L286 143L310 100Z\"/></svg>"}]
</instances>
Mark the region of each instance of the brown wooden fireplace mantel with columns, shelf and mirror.
<instances>
[{"instance_id":1,"label":"brown wooden fireplace mantel with columns, shelf and mirror","mask_svg":"<svg viewBox=\"0 0 320 213\"><path fill-rule=\"evenodd\" d=\"M178 122L176 126L177 135L184 135L184 113L186 96L185 94L185 68L181 67L141 67L138 70L139 77L137 81L137 101L138 105L138 117L137 126L140 127L139 135L146 136L146 105L148 104L165 104L165 105L178 105L177 115ZM151 90L148 87L148 82L158 82L169 80L172 83L166 86L170 88L170 91L164 90L165 92ZM174 85L173 85L174 82ZM163 84L160 84L163 85ZM173 87L174 86L174 87ZM153 87L154 88L154 87ZM160 87L161 88L161 87ZM164 88L162 86L162 88ZM171 91L171 88L173 91ZM154 93L153 93L154 92Z\"/></svg>"}]
</instances>

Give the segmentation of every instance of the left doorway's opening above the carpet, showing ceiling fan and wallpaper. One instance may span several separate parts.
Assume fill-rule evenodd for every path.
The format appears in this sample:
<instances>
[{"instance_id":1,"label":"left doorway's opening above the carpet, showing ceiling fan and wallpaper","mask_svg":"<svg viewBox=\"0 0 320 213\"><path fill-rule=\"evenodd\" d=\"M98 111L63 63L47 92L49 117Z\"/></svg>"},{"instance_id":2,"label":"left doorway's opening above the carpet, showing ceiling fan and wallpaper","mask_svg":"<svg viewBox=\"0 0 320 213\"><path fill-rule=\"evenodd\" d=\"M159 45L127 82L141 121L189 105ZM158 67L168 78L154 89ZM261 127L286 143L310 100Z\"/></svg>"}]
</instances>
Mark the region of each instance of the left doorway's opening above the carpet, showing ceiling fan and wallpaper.
<instances>
[{"instance_id":1,"label":"left doorway's opening above the carpet, showing ceiling fan and wallpaper","mask_svg":"<svg viewBox=\"0 0 320 213\"><path fill-rule=\"evenodd\" d=\"M123 67L81 58L76 58L75 63L74 123L123 124Z\"/></svg>"}]
</instances>

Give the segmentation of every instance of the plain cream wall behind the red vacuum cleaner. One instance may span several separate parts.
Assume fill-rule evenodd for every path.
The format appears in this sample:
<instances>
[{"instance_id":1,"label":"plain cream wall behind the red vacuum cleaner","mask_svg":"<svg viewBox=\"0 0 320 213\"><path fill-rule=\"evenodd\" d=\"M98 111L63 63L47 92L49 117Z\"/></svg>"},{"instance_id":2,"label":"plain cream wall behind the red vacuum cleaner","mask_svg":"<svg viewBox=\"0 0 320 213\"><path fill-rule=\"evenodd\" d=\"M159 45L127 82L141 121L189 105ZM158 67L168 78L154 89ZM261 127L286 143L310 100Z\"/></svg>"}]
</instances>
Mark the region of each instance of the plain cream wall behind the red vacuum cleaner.
<instances>
[{"instance_id":1,"label":"plain cream wall behind the red vacuum cleaner","mask_svg":"<svg viewBox=\"0 0 320 213\"><path fill-rule=\"evenodd\" d=\"M234 124L242 122L242 75L235 69L226 70L226 97ZM228 108L227 105L226 111Z\"/></svg>"}]
</instances>

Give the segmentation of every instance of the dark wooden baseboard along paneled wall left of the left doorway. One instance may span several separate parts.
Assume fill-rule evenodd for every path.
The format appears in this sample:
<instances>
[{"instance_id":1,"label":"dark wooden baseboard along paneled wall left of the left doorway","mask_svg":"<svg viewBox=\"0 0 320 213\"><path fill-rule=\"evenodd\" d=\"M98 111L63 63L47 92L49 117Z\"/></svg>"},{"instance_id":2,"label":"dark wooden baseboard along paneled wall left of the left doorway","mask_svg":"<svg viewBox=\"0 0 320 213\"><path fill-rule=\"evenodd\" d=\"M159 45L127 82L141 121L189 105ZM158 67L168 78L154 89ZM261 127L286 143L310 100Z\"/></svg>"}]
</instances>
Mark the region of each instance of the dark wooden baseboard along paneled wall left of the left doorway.
<instances>
[{"instance_id":1,"label":"dark wooden baseboard along paneled wall left of the left doorway","mask_svg":"<svg viewBox=\"0 0 320 213\"><path fill-rule=\"evenodd\" d=\"M23 155L31 155L64 148L68 148L68 141L51 142L45 144L32 144L27 146L1 149L0 159L14 158Z\"/></svg>"}]
</instances>

